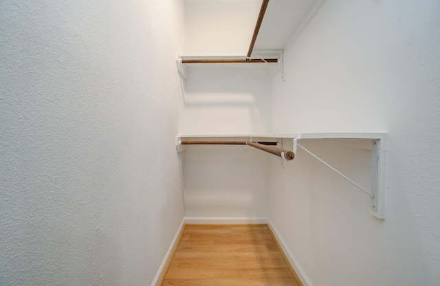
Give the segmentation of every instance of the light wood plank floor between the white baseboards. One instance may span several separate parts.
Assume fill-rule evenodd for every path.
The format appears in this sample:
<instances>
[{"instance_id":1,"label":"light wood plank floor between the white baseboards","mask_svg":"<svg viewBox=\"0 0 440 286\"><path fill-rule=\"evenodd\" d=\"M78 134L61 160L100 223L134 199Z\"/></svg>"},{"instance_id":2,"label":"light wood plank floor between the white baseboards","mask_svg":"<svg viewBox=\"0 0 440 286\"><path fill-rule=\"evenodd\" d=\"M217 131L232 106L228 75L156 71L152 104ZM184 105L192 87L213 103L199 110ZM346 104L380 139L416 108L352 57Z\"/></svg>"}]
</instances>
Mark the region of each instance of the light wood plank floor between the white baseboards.
<instances>
[{"instance_id":1,"label":"light wood plank floor between the white baseboards","mask_svg":"<svg viewBox=\"0 0 440 286\"><path fill-rule=\"evenodd\" d=\"M301 285L267 225L186 225L165 271L163 286Z\"/></svg>"}]
</instances>

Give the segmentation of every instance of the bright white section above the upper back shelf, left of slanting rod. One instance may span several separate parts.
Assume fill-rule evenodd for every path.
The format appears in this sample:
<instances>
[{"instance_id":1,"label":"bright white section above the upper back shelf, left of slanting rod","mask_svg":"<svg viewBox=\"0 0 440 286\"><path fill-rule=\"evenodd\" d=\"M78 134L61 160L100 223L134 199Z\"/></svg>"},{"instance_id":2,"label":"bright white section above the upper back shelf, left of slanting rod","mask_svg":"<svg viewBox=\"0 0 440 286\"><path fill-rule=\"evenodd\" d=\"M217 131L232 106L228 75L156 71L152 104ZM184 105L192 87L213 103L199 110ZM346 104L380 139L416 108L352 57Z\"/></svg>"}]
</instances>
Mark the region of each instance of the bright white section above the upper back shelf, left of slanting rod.
<instances>
[{"instance_id":1,"label":"bright white section above the upper back shelf, left of slanting rod","mask_svg":"<svg viewBox=\"0 0 440 286\"><path fill-rule=\"evenodd\" d=\"M185 0L185 56L248 54L261 1Z\"/></svg>"}]
</instances>

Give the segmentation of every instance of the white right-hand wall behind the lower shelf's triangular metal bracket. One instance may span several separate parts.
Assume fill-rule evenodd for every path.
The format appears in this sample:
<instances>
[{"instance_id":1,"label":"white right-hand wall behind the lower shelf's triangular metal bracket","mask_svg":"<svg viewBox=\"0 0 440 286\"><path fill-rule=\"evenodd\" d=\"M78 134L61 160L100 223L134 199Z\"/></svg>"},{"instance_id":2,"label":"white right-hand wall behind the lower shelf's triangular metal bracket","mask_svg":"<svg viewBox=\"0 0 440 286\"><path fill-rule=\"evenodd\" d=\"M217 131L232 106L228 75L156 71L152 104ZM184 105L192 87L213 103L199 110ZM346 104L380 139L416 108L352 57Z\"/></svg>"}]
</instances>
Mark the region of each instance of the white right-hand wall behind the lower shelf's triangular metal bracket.
<instances>
[{"instance_id":1,"label":"white right-hand wall behind the lower shelf's triangular metal bracket","mask_svg":"<svg viewBox=\"0 0 440 286\"><path fill-rule=\"evenodd\" d=\"M329 0L286 51L274 132L389 133L386 219L298 151L272 160L270 217L314 286L440 283L440 3ZM365 150L305 141L368 186Z\"/></svg>"}]
</instances>

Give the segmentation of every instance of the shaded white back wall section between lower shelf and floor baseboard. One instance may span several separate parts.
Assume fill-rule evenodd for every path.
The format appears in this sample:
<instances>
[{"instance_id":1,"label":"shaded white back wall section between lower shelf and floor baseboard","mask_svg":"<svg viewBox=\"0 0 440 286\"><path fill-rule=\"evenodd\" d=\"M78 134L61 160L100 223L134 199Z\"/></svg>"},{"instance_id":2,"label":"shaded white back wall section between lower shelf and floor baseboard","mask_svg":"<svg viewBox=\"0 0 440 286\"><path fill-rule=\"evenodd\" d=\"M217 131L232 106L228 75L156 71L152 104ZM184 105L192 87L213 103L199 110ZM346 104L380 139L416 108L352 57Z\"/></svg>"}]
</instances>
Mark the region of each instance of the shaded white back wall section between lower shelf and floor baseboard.
<instances>
[{"instance_id":1,"label":"shaded white back wall section between lower shelf and floor baseboard","mask_svg":"<svg viewBox=\"0 0 440 286\"><path fill-rule=\"evenodd\" d=\"M187 217L267 217L269 154L250 146L187 146Z\"/></svg>"}]
</instances>

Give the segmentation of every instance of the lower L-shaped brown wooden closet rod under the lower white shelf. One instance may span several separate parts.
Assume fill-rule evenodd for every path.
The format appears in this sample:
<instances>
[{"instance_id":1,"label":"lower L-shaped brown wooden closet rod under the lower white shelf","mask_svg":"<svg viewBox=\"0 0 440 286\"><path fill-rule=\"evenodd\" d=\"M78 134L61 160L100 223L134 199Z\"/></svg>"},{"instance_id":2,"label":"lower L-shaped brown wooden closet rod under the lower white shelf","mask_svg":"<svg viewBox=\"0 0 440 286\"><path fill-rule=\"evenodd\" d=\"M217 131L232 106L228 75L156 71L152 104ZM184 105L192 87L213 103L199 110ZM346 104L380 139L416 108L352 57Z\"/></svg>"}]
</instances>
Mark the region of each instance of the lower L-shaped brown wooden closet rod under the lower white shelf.
<instances>
[{"instance_id":1,"label":"lower L-shaped brown wooden closet rod under the lower white shelf","mask_svg":"<svg viewBox=\"0 0 440 286\"><path fill-rule=\"evenodd\" d=\"M284 157L288 161L294 159L295 154L292 151L274 147L276 142L249 142L249 141L181 141L182 145L249 145L254 148L266 151L278 157ZM270 146L272 145L272 146Z\"/></svg>"}]
</instances>

